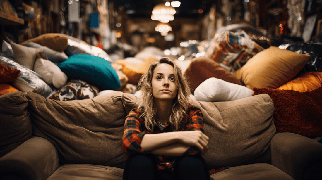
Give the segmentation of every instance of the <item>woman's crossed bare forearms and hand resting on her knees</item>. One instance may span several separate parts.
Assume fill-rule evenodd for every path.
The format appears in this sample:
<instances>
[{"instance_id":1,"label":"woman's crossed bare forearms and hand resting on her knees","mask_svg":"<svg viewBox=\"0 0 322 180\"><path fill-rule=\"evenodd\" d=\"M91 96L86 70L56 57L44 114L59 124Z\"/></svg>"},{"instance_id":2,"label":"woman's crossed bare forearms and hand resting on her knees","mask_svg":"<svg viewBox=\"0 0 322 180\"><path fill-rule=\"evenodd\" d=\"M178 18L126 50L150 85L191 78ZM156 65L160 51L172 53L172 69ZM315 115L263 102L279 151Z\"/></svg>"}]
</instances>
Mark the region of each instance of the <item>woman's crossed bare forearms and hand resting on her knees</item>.
<instances>
[{"instance_id":1,"label":"woman's crossed bare forearms and hand resting on her knees","mask_svg":"<svg viewBox=\"0 0 322 180\"><path fill-rule=\"evenodd\" d=\"M169 153L182 155L191 146L195 146L204 154L208 150L208 140L209 138L201 131L177 131L145 134L140 146L145 151L153 150L153 154L159 155L170 155Z\"/></svg>"}]
</instances>

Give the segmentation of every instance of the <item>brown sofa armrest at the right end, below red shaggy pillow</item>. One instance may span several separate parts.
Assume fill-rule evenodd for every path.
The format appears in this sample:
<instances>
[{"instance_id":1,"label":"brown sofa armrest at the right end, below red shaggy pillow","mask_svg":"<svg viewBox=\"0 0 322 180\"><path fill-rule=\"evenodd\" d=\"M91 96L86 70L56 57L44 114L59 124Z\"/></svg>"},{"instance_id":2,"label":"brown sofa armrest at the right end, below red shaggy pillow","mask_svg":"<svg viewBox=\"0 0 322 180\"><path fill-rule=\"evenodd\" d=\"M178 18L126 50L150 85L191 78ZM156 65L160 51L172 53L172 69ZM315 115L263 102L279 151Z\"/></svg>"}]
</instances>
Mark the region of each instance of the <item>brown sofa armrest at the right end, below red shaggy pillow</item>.
<instances>
[{"instance_id":1,"label":"brown sofa armrest at the right end, below red shaggy pillow","mask_svg":"<svg viewBox=\"0 0 322 180\"><path fill-rule=\"evenodd\" d=\"M294 180L321 179L322 144L307 137L282 132L270 142L271 164Z\"/></svg>"}]
</instances>

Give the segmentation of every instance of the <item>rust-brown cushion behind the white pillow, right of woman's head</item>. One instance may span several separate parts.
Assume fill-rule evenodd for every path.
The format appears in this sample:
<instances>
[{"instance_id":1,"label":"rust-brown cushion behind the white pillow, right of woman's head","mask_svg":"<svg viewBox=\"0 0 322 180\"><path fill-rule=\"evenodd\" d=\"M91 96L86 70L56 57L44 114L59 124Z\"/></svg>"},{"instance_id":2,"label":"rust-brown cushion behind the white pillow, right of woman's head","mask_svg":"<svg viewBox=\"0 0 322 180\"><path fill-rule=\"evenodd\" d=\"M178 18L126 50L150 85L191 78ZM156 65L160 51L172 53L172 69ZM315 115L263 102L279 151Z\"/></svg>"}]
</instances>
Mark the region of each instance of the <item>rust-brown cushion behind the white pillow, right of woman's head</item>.
<instances>
[{"instance_id":1,"label":"rust-brown cushion behind the white pillow, right of woman's head","mask_svg":"<svg viewBox=\"0 0 322 180\"><path fill-rule=\"evenodd\" d=\"M198 85L211 77L243 85L239 79L232 75L232 73L221 67L212 59L205 57L194 58L185 71L185 75L188 77L188 81L190 82L191 90L193 92Z\"/></svg>"}]
</instances>

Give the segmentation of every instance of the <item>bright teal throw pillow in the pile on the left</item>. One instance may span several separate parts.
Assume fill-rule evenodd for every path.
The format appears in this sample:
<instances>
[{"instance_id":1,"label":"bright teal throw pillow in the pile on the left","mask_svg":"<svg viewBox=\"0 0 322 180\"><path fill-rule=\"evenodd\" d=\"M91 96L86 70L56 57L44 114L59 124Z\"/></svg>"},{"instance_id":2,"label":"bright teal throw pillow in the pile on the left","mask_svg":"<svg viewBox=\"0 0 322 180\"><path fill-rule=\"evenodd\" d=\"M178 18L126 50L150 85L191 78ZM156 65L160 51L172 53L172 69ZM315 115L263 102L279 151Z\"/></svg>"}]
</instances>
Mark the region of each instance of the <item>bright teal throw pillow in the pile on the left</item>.
<instances>
[{"instance_id":1,"label":"bright teal throw pillow in the pile on the left","mask_svg":"<svg viewBox=\"0 0 322 180\"><path fill-rule=\"evenodd\" d=\"M109 61L89 54L74 54L57 64L68 79L80 79L99 91L121 87L118 75Z\"/></svg>"}]
</instances>

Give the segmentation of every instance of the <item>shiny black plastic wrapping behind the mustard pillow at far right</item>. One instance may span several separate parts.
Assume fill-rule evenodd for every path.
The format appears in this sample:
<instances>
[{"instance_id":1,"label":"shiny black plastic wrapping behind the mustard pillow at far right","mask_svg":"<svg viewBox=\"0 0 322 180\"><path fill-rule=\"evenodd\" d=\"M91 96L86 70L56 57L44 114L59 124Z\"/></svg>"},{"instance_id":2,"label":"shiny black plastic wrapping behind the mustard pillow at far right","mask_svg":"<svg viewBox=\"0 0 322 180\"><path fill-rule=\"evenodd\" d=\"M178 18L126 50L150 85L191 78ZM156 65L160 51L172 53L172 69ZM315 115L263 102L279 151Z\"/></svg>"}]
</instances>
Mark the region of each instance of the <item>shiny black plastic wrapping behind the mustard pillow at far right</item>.
<instances>
[{"instance_id":1,"label":"shiny black plastic wrapping behind the mustard pillow at far right","mask_svg":"<svg viewBox=\"0 0 322 180\"><path fill-rule=\"evenodd\" d=\"M280 49L288 49L298 54L307 54L311 58L306 63L305 67L300 73L308 71L322 72L322 43L316 42L292 42L282 44L279 46Z\"/></svg>"}]
</instances>

